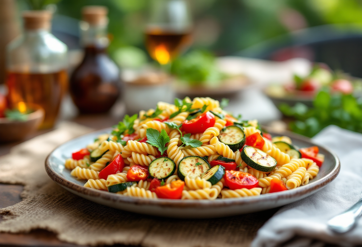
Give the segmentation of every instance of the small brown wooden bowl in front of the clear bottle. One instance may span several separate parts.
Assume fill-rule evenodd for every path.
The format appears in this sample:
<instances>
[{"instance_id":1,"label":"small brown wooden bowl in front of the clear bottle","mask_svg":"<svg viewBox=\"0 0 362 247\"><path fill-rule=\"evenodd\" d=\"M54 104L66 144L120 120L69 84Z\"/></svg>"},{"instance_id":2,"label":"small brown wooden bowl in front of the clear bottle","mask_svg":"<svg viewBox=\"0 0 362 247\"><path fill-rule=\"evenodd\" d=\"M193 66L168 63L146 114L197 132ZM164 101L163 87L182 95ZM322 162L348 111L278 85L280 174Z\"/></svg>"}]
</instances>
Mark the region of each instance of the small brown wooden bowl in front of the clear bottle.
<instances>
[{"instance_id":1,"label":"small brown wooden bowl in front of the clear bottle","mask_svg":"<svg viewBox=\"0 0 362 247\"><path fill-rule=\"evenodd\" d=\"M24 139L38 129L43 122L44 114L43 109L37 108L27 115L26 121L0 118L0 142L14 142Z\"/></svg>"}]
</instances>

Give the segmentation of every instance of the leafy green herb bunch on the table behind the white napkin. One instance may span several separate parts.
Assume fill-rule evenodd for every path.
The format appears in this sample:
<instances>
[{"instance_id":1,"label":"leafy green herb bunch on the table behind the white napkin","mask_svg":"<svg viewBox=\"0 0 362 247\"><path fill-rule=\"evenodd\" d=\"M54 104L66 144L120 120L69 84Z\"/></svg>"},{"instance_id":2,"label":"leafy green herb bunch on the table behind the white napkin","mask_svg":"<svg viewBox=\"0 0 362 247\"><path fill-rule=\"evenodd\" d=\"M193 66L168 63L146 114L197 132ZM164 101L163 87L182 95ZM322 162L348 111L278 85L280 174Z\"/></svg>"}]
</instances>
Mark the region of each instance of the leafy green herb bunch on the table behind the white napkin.
<instances>
[{"instance_id":1,"label":"leafy green herb bunch on the table behind the white napkin","mask_svg":"<svg viewBox=\"0 0 362 247\"><path fill-rule=\"evenodd\" d=\"M295 118L290 123L292 131L308 137L316 135L328 125L362 133L362 101L352 95L331 95L320 91L312 108L297 103L294 107L281 104L279 109L286 116Z\"/></svg>"}]
</instances>

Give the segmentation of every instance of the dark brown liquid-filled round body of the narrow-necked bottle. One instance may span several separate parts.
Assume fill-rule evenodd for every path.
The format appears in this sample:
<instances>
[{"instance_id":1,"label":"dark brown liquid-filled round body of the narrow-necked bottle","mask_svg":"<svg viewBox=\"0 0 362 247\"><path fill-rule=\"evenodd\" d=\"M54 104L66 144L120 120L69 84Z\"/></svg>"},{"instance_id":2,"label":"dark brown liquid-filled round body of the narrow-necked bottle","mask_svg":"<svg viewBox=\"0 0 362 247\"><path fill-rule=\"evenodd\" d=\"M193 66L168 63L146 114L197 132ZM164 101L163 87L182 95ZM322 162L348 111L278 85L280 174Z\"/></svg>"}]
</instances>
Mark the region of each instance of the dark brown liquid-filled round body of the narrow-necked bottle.
<instances>
[{"instance_id":1,"label":"dark brown liquid-filled round body of the narrow-necked bottle","mask_svg":"<svg viewBox=\"0 0 362 247\"><path fill-rule=\"evenodd\" d=\"M85 47L85 56L70 78L72 99L82 113L107 112L121 91L119 70L106 48Z\"/></svg>"}]
</instances>

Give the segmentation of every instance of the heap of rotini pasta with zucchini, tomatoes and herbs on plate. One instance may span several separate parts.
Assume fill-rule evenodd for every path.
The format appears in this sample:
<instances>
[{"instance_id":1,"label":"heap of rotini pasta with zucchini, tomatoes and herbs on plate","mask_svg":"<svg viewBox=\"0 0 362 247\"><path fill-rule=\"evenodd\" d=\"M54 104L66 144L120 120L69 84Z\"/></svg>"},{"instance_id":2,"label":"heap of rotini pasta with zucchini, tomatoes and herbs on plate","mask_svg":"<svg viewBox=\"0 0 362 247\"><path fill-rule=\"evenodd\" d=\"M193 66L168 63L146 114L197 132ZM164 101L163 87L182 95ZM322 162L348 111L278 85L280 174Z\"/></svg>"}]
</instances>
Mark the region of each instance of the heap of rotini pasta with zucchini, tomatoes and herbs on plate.
<instances>
[{"instance_id":1,"label":"heap of rotini pasta with zucchini, tomatoes and herbs on plate","mask_svg":"<svg viewBox=\"0 0 362 247\"><path fill-rule=\"evenodd\" d=\"M258 196L316 177L324 161L318 147L297 148L240 118L209 97L159 102L126 115L65 167L85 187L150 199Z\"/></svg>"}]
</instances>

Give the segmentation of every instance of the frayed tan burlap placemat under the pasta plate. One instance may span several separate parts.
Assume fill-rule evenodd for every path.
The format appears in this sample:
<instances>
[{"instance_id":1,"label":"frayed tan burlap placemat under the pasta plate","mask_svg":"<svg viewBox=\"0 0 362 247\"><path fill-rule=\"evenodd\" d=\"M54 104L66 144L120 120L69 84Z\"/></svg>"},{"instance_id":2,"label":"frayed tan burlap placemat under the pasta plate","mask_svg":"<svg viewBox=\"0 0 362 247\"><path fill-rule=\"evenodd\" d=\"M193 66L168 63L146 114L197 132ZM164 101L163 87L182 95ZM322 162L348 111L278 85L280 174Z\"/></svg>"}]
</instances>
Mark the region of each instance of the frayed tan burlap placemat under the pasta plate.
<instances>
[{"instance_id":1,"label":"frayed tan burlap placemat under the pasta plate","mask_svg":"<svg viewBox=\"0 0 362 247\"><path fill-rule=\"evenodd\" d=\"M89 131L75 123L63 123L1 157L0 182L25 187L22 202L0 209L4 215L0 232L45 229L62 241L91 246L115 243L155 247L248 246L256 231L275 212L180 220L119 211L75 196L48 177L44 161L56 146Z\"/></svg>"}]
</instances>

